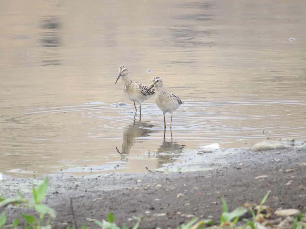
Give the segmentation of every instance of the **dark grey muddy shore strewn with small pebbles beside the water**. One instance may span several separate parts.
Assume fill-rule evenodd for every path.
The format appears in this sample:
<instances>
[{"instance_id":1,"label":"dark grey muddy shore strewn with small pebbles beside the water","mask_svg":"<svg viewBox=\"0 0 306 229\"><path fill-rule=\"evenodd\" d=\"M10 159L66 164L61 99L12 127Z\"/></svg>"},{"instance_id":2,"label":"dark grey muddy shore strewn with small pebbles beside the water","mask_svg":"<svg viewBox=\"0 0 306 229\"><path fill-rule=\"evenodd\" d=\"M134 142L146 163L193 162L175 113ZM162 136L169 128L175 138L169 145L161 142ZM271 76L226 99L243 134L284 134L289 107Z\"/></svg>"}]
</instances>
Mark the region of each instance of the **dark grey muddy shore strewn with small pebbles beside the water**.
<instances>
[{"instance_id":1,"label":"dark grey muddy shore strewn with small pebbles beside the water","mask_svg":"<svg viewBox=\"0 0 306 229\"><path fill-rule=\"evenodd\" d=\"M186 167L210 169L184 172ZM271 193L265 204L272 209L306 211L306 147L196 153L165 171L170 168L176 172L50 176L43 202L56 210L52 228L82 228L84 223L88 228L98 228L89 219L107 219L110 212L117 225L130 228L136 223L132 216L142 219L140 228L175 228L194 216L218 223L222 195L231 211L246 202L259 204L268 191ZM0 193L15 196L17 191L31 190L38 181L41 179L9 178L0 182ZM9 221L20 213L33 213L32 209L14 206L7 206L5 211Z\"/></svg>"}]
</instances>

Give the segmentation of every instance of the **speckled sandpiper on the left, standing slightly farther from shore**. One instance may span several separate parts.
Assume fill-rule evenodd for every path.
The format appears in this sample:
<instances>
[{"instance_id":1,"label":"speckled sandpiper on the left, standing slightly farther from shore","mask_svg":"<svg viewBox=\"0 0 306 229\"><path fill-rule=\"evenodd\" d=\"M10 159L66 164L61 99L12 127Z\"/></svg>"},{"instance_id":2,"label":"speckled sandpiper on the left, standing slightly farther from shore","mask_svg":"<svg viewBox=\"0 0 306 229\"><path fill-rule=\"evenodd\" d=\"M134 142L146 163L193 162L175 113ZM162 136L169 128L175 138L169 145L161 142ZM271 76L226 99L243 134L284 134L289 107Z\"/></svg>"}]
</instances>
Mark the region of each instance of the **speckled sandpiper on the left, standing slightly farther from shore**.
<instances>
[{"instance_id":1,"label":"speckled sandpiper on the left, standing slightly farther from shore","mask_svg":"<svg viewBox=\"0 0 306 229\"><path fill-rule=\"evenodd\" d=\"M134 102L135 110L137 108L135 102L139 103L139 113L141 114L141 103L144 100L151 98L155 94L154 89L149 89L146 85L132 81L129 77L128 69L124 65L118 67L119 75L115 83L121 77L123 94Z\"/></svg>"}]
</instances>

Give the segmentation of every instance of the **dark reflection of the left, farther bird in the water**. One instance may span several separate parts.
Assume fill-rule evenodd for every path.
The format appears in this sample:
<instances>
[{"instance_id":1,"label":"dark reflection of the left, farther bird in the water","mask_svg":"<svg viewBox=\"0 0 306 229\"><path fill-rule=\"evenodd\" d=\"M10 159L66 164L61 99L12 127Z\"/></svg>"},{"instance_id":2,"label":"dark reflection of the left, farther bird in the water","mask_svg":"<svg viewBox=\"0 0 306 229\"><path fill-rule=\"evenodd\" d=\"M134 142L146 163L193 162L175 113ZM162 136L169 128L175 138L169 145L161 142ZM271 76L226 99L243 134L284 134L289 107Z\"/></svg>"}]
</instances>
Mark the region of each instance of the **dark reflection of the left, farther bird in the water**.
<instances>
[{"instance_id":1,"label":"dark reflection of the left, farther bird in the water","mask_svg":"<svg viewBox=\"0 0 306 229\"><path fill-rule=\"evenodd\" d=\"M136 121L135 115L133 122L127 125L123 130L121 151L119 151L116 146L116 150L120 154L120 160L128 160L131 147L135 142L143 142L142 138L150 136L151 133L160 132L160 130L155 130L154 127L156 126L150 122L141 122L141 119Z\"/></svg>"}]
</instances>

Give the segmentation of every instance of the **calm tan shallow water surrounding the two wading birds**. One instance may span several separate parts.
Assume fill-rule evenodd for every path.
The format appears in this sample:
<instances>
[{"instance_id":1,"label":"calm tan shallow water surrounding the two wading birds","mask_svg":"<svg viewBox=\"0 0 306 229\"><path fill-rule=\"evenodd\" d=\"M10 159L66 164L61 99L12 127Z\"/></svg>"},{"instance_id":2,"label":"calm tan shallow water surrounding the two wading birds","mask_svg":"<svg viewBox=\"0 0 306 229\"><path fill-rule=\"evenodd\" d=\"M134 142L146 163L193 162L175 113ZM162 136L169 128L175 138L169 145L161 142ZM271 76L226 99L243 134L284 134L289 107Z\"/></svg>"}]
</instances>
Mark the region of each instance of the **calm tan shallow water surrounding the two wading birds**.
<instances>
[{"instance_id":1,"label":"calm tan shallow water surrounding the two wading birds","mask_svg":"<svg viewBox=\"0 0 306 229\"><path fill-rule=\"evenodd\" d=\"M1 2L0 172L144 172L212 143L305 139L305 7ZM154 97L142 104L141 119L135 115L115 84L123 64L148 86L162 77L186 103L172 131L164 133Z\"/></svg>"}]
</instances>

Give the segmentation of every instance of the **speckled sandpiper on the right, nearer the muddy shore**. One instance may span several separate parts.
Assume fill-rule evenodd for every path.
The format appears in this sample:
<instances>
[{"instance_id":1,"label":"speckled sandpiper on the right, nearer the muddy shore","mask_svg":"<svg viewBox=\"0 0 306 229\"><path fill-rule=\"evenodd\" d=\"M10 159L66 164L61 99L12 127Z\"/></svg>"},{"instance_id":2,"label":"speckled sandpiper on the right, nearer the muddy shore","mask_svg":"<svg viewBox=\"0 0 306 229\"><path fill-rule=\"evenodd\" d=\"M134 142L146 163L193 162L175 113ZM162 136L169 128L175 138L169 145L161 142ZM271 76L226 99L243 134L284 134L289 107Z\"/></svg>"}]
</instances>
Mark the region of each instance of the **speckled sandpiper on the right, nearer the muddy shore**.
<instances>
[{"instance_id":1,"label":"speckled sandpiper on the right, nearer the muddy shore","mask_svg":"<svg viewBox=\"0 0 306 229\"><path fill-rule=\"evenodd\" d=\"M156 105L159 107L159 109L162 110L162 112L164 113L164 124L165 124L165 129L166 129L166 120L165 120L165 114L168 112L171 114L171 122L170 122L170 129L172 127L172 115L173 112L181 105L181 104L185 104L184 102L182 102L182 100L180 100L179 97L177 97L177 95L167 92L164 89L164 85L162 84L162 78L156 76L152 79L153 84L151 85L151 87L149 87L146 91L146 93L148 91L151 90L152 87L155 86L155 93L156 93L156 97L155 97L155 103Z\"/></svg>"}]
</instances>

